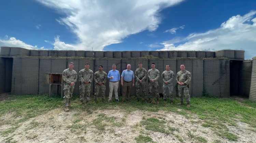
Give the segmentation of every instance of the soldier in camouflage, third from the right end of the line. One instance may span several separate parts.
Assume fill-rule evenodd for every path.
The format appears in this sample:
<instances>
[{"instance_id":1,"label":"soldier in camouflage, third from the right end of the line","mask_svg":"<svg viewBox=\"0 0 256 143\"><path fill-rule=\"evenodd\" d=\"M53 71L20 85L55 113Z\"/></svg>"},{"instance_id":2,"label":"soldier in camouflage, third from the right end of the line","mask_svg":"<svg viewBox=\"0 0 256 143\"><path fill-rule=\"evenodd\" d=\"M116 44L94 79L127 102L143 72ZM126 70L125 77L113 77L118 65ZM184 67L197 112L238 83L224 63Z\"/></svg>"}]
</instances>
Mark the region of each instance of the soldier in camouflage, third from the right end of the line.
<instances>
[{"instance_id":1,"label":"soldier in camouflage, third from the right end of the line","mask_svg":"<svg viewBox=\"0 0 256 143\"><path fill-rule=\"evenodd\" d=\"M158 82L157 79L160 76L160 72L159 70L157 70L155 68L155 63L151 64L151 69L148 70L147 72L147 76L148 76L148 86L149 86L149 93L148 93L148 98L149 98L149 103L152 102L151 98L152 98L152 89L155 89L155 94L156 94L156 102L157 104L159 104L159 94L158 94Z\"/></svg>"}]
</instances>

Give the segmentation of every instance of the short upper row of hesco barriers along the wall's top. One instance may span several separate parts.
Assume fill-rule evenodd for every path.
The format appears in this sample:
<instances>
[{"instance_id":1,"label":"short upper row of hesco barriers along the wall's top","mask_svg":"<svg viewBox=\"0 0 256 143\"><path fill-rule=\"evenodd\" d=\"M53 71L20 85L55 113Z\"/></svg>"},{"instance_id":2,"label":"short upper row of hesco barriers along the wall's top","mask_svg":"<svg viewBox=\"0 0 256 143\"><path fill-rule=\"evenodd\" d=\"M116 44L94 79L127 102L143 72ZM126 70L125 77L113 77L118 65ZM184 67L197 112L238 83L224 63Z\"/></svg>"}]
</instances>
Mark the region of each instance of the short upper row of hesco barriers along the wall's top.
<instances>
[{"instance_id":1,"label":"short upper row of hesco barriers along the wall's top","mask_svg":"<svg viewBox=\"0 0 256 143\"><path fill-rule=\"evenodd\" d=\"M221 51L62 51L28 50L19 47L1 47L2 56L32 57L85 57L85 58L139 58L152 55L155 58L229 58L244 60L243 50Z\"/></svg>"}]
</instances>

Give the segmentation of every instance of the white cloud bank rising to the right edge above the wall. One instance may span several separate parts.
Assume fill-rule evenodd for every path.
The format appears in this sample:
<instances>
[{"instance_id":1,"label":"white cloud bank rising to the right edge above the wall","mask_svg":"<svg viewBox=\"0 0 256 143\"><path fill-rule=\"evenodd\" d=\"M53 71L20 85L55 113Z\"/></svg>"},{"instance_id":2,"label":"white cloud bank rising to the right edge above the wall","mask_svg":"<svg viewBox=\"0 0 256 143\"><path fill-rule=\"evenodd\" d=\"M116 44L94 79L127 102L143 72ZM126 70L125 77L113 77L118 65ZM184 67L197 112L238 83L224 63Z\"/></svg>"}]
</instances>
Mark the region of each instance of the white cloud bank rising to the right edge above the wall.
<instances>
[{"instance_id":1,"label":"white cloud bank rising to the right edge above the wall","mask_svg":"<svg viewBox=\"0 0 256 143\"><path fill-rule=\"evenodd\" d=\"M192 33L162 42L159 50L245 50L245 59L256 56L256 11L230 17L217 29Z\"/></svg>"}]
</instances>

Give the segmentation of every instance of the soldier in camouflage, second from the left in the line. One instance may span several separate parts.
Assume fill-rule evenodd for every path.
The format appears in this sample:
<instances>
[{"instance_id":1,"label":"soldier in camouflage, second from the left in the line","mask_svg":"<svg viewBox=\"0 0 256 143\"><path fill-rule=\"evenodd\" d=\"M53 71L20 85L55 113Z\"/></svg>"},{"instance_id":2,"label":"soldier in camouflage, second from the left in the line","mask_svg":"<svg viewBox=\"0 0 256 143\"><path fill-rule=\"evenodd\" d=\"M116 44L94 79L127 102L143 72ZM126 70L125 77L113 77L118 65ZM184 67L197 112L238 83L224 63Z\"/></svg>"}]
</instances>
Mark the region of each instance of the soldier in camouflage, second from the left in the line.
<instances>
[{"instance_id":1,"label":"soldier in camouflage, second from the left in the line","mask_svg":"<svg viewBox=\"0 0 256 143\"><path fill-rule=\"evenodd\" d=\"M85 68L79 71L79 80L80 80L80 105L83 104L84 95L86 92L86 103L88 103L90 99L90 90L91 90L91 82L93 82L93 71L90 70L90 64L86 63Z\"/></svg>"}]
</instances>

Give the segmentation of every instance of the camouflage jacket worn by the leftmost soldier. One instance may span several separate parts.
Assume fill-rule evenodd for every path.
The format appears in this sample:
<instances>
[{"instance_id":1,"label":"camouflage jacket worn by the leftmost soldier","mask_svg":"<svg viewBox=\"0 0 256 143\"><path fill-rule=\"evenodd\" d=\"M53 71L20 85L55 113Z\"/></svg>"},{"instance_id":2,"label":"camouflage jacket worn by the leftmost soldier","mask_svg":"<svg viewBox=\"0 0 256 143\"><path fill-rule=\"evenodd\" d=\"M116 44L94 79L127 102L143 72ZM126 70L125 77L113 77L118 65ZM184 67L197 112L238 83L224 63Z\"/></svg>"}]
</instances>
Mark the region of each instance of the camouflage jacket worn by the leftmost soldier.
<instances>
[{"instance_id":1,"label":"camouflage jacket worn by the leftmost soldier","mask_svg":"<svg viewBox=\"0 0 256 143\"><path fill-rule=\"evenodd\" d=\"M62 79L65 83L71 84L71 82L76 82L77 80L77 73L74 69L69 70L68 68L65 69L62 73Z\"/></svg>"}]
</instances>

